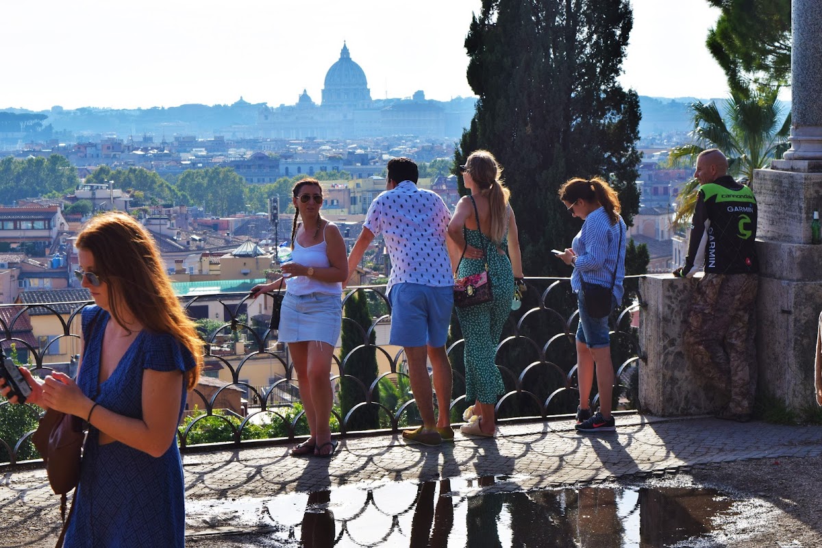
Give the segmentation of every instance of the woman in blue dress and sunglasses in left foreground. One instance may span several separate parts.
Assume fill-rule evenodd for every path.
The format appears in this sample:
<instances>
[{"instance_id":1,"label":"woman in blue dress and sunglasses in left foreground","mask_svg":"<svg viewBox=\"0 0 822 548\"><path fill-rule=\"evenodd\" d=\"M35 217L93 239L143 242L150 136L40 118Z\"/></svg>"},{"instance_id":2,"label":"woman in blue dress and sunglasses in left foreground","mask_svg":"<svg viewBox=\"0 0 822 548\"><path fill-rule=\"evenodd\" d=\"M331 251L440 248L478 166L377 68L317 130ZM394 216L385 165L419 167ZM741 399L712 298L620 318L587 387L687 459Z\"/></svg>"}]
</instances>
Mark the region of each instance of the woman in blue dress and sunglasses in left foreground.
<instances>
[{"instance_id":1,"label":"woman in blue dress and sunglasses in left foreground","mask_svg":"<svg viewBox=\"0 0 822 548\"><path fill-rule=\"evenodd\" d=\"M153 238L130 215L91 219L76 247L75 274L95 301L82 312L77 380L55 372L37 381L21 368L30 403L89 423L64 546L183 548L176 434L201 370L201 339Z\"/></svg>"}]
</instances>

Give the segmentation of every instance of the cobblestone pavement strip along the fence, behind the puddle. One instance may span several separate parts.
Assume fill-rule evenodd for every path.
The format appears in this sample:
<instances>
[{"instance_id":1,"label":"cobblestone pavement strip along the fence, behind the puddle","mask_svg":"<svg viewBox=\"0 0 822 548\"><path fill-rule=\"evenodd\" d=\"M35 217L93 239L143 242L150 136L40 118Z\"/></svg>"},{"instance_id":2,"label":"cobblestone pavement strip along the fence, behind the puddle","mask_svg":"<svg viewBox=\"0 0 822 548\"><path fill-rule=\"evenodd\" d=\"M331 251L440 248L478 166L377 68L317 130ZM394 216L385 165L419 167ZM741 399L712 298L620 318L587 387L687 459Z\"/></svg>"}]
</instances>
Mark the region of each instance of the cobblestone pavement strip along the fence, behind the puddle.
<instances>
[{"instance_id":1,"label":"cobblestone pavement strip along the fence, behind the puddle","mask_svg":"<svg viewBox=\"0 0 822 548\"><path fill-rule=\"evenodd\" d=\"M580 435L569 420L503 424L494 439L457 431L455 444L439 448L406 445L397 435L358 437L340 441L330 459L289 457L289 445L186 454L186 498L270 498L355 483L483 476L513 476L518 488L530 489L705 463L822 455L822 426L626 415L617 417L617 429ZM6 471L0 478L4 538L25 539L18 546L48 546L58 531L59 497L45 472Z\"/></svg>"}]
</instances>

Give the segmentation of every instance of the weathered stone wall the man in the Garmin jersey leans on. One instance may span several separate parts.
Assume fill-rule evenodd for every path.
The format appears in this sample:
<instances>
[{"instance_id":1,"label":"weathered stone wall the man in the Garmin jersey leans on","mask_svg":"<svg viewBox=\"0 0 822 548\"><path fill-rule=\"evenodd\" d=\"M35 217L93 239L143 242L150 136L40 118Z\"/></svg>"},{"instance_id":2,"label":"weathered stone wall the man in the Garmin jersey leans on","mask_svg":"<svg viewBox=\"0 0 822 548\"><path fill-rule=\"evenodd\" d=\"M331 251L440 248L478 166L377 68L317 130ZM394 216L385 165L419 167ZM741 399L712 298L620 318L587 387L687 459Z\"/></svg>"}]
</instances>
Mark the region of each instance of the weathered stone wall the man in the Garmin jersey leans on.
<instances>
[{"instance_id":1,"label":"weathered stone wall the man in the Garmin jersey leans on","mask_svg":"<svg viewBox=\"0 0 822 548\"><path fill-rule=\"evenodd\" d=\"M757 242L757 246L764 259L756 313L758 391L799 410L815 403L814 357L822 284L790 278L801 265L818 265L822 246L784 249L772 242ZM646 305L640 315L643 412L662 417L700 415L717 412L723 405L713 386L706 384L690 363L682 345L690 297L700 275L677 279L671 274L655 274L640 280Z\"/></svg>"}]
</instances>

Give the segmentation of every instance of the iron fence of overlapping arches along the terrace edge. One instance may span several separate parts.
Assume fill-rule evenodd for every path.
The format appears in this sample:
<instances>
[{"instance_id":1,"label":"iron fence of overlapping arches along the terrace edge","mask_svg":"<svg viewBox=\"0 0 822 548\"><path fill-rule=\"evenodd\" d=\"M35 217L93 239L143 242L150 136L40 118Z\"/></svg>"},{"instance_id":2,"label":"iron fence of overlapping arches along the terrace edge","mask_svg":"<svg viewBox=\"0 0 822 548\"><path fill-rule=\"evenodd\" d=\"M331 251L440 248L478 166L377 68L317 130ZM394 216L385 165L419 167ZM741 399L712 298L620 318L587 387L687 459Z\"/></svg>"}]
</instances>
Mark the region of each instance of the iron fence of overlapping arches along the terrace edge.
<instances>
[{"instance_id":1,"label":"iron fence of overlapping arches along the terrace edge","mask_svg":"<svg viewBox=\"0 0 822 548\"><path fill-rule=\"evenodd\" d=\"M609 319L617 374L614 402L623 409L639 408L638 279L626 279L626 297ZM570 279L529 278L527 284L523 306L512 311L496 348L496 365L506 387L506 394L496 404L500 421L545 420L572 414L579 400L575 359L579 312ZM350 288L344 296L343 331L347 342L342 346L347 350L343 356L344 348L336 349L330 379L335 387L332 430L339 435L397 431L418 418L403 349L387 341L390 305L384 292L385 286L367 286ZM365 297L368 325L349 317L354 301L363 306L363 300L355 299L355 294ZM181 298L190 313L197 307L202 311L208 302L211 306L216 302L223 311L222 321L204 336L204 375L219 380L198 385L189 394L187 417L178 429L181 450L196 449L205 443L211 448L213 442L242 447L252 440L260 443L306 435L307 423L298 401L299 380L288 348L278 343L276 329L267 325L265 315L250 315L248 293ZM12 354L35 374L60 370L73 375L79 353L80 312L89 304L0 305L0 344L7 352L13 345L16 352ZM37 321L49 327L32 325ZM31 334L33 329L57 332L38 339ZM454 375L448 412L452 422L459 422L469 403L464 401L464 339L456 315L447 351ZM371 366L364 368L370 373L363 374L364 361L371 361ZM259 382L261 376L267 376L268 382ZM239 405L238 400L242 401ZM597 400L598 394L593 395L594 404ZM39 457L30 444L30 433L38 418L39 408L35 406L0 403L0 463L14 465Z\"/></svg>"}]
</instances>

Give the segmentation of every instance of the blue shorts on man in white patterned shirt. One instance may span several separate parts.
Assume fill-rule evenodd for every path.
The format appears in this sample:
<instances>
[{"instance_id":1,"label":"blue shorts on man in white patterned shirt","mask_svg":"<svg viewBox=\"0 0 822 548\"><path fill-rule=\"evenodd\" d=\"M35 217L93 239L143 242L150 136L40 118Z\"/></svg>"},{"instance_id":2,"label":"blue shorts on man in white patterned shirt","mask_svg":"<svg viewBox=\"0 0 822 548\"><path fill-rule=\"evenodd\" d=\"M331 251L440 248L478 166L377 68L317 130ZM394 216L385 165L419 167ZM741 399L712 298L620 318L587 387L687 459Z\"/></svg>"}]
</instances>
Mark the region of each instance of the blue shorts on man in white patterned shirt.
<instances>
[{"instance_id":1,"label":"blue shorts on man in white patterned shirt","mask_svg":"<svg viewBox=\"0 0 822 548\"><path fill-rule=\"evenodd\" d=\"M446 345L454 288L397 283L388 292L391 303L390 343L401 347Z\"/></svg>"}]
</instances>

